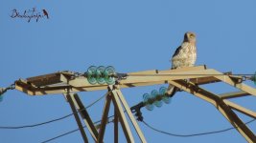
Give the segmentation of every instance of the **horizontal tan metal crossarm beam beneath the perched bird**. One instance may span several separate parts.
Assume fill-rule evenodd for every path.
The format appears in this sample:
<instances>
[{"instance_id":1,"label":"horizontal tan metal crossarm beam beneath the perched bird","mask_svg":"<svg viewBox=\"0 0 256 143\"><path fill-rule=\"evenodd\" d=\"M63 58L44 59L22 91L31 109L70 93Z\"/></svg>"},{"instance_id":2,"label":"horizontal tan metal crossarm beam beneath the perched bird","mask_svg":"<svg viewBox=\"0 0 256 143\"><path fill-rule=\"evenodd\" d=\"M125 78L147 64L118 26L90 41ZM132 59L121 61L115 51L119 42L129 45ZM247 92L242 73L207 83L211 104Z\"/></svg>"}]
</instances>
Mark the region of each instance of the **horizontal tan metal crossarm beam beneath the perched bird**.
<instances>
[{"instance_id":1,"label":"horizontal tan metal crossarm beam beneath the perched bird","mask_svg":"<svg viewBox=\"0 0 256 143\"><path fill-rule=\"evenodd\" d=\"M213 72L214 70L207 70L205 66L168 71L130 72L127 79L119 81L119 85L120 88L132 88L166 84L172 80L188 78L198 85L220 82L220 79L211 75ZM230 72L227 73L230 74ZM106 90L107 86L107 84L91 85L86 77L76 76L74 72L55 72L15 81L16 90L30 95L66 93L66 89L70 89L70 92L98 91Z\"/></svg>"}]
</instances>

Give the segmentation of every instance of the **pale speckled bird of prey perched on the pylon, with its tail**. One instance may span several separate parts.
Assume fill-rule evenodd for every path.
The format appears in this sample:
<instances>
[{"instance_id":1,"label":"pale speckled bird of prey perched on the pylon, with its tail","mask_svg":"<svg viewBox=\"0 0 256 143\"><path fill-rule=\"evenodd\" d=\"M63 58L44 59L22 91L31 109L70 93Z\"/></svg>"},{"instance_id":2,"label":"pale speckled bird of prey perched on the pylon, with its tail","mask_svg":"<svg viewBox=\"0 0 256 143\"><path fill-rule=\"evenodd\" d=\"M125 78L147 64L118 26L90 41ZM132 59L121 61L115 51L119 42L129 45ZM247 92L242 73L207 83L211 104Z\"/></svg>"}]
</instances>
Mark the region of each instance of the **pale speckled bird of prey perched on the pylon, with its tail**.
<instances>
[{"instance_id":1,"label":"pale speckled bird of prey perched on the pylon, with its tail","mask_svg":"<svg viewBox=\"0 0 256 143\"><path fill-rule=\"evenodd\" d=\"M184 40L179 46L172 59L172 69L179 69L183 67L193 67L197 60L196 34L188 31L184 35ZM178 91L173 85L169 85L167 93L170 97L175 95Z\"/></svg>"}]
</instances>

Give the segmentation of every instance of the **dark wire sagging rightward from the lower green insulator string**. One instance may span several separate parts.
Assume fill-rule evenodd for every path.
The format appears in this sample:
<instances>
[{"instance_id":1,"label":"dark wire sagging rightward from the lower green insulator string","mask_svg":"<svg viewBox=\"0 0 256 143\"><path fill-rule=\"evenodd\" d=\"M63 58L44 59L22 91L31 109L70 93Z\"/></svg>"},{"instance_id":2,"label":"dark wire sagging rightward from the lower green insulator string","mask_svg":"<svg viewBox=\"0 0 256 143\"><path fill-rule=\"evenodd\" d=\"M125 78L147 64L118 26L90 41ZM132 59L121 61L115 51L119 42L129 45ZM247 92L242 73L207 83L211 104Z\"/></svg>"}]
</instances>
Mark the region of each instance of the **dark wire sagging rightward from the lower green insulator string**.
<instances>
[{"instance_id":1,"label":"dark wire sagging rightward from the lower green insulator string","mask_svg":"<svg viewBox=\"0 0 256 143\"><path fill-rule=\"evenodd\" d=\"M256 119L252 119L248 122L245 122L244 124L249 124L253 121L255 121ZM171 136L176 136L176 137L192 137L192 136L200 136L200 135L207 135L207 134L214 134L214 133L224 133L224 132L227 132L227 131L230 131L230 130L233 130L233 129L237 129L238 127L230 127L230 128L227 128L227 129L223 129L223 130L219 130L219 131L213 131L213 132L206 132L206 133L192 133L192 134L176 134L176 133L168 133L168 132L165 132L165 131L161 131L161 130L158 130L154 127L152 127L149 123L145 122L145 121L142 121L148 128L150 128L151 130L157 132L157 133L163 133L163 134L167 134L167 135L171 135Z\"/></svg>"}]
</instances>

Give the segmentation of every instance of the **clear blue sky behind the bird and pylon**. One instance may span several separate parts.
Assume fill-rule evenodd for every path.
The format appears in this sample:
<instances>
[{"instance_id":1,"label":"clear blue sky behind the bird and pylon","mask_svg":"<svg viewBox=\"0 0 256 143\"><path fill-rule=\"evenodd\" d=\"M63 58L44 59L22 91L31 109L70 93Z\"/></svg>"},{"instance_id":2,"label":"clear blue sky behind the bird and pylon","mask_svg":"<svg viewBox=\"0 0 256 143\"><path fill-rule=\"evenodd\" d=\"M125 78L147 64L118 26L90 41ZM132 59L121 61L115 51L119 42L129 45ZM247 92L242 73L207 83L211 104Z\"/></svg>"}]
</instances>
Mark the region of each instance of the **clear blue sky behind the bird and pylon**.
<instances>
[{"instance_id":1,"label":"clear blue sky behind the bird and pylon","mask_svg":"<svg viewBox=\"0 0 256 143\"><path fill-rule=\"evenodd\" d=\"M167 70L171 67L169 59L186 31L195 31L198 35L197 65L205 64L221 72L253 73L255 6L253 0L2 0L0 87L18 78L49 72L85 72L91 65L111 65L117 72ZM38 22L33 19L28 23L26 19L10 17L13 9L33 8L47 10L50 19ZM247 84L253 86L251 82ZM123 93L132 106L142 100L144 92L159 87L126 89ZM205 88L216 93L232 90L222 84ZM104 93L80 94L86 106ZM253 100L253 97L244 97L232 101L255 111ZM103 106L104 100L88 110L94 121L101 118ZM28 96L12 91L7 92L0 103L0 112L0 126L19 126L54 119L71 110L61 94ZM186 92L178 92L170 105L142 112L145 121L170 133L202 133L231 126L212 105ZM250 119L241 117L244 121ZM236 130L180 138L155 133L142 123L139 125L149 142L246 142ZM256 122L249 127L255 132ZM77 128L75 119L69 117L37 128L0 130L0 142L41 142ZM121 135L120 140L124 139ZM81 134L77 132L53 142L81 141ZM107 126L105 142L113 142L112 124Z\"/></svg>"}]
</instances>

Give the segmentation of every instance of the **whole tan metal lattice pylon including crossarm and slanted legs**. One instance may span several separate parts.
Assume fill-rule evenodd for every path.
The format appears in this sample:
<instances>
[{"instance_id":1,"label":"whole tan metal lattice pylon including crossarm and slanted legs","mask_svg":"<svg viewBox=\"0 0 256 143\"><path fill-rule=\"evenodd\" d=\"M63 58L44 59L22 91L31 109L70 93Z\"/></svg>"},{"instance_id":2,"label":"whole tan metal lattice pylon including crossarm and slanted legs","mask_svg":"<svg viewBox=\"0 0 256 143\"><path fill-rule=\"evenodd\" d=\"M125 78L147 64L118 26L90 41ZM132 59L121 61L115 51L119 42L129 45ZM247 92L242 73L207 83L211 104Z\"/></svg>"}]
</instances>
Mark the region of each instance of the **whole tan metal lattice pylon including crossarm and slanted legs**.
<instances>
[{"instance_id":1,"label":"whole tan metal lattice pylon including crossarm and slanted legs","mask_svg":"<svg viewBox=\"0 0 256 143\"><path fill-rule=\"evenodd\" d=\"M88 139L82 128L79 113L95 142L103 142L109 106L111 103L113 103L115 112L115 142L118 142L119 122L121 123L127 141L134 142L133 134L128 126L128 119L124 113L124 110L127 111L128 118L135 128L141 142L147 142L132 112L129 110L128 103L121 92L121 89L159 84L172 84L185 92L189 92L198 98L211 103L233 125L233 127L235 127L235 129L244 136L246 141L256 142L255 134L250 131L250 129L234 111L242 112L245 115L253 118L256 118L256 112L250 111L228 100L230 98L243 97L246 95L256 96L256 89L245 85L243 81L243 76L235 76L232 75L231 72L222 73L213 69L207 69L206 66L198 66L167 71L153 70L144 72L130 72L126 74L126 78L118 80L114 85L92 85L88 82L86 76L77 75L75 72L55 72L30 77L27 79L19 79L15 81L15 89L30 95L44 95L53 93L64 94L74 113L84 142L88 142ZM238 92L232 91L216 94L214 92L208 92L200 86L215 82L222 82L230 85L231 87L236 88ZM90 92L98 90L107 91L105 97L105 108L99 129L97 129L93 124L89 113L83 107L80 97L77 94L77 92Z\"/></svg>"}]
</instances>

